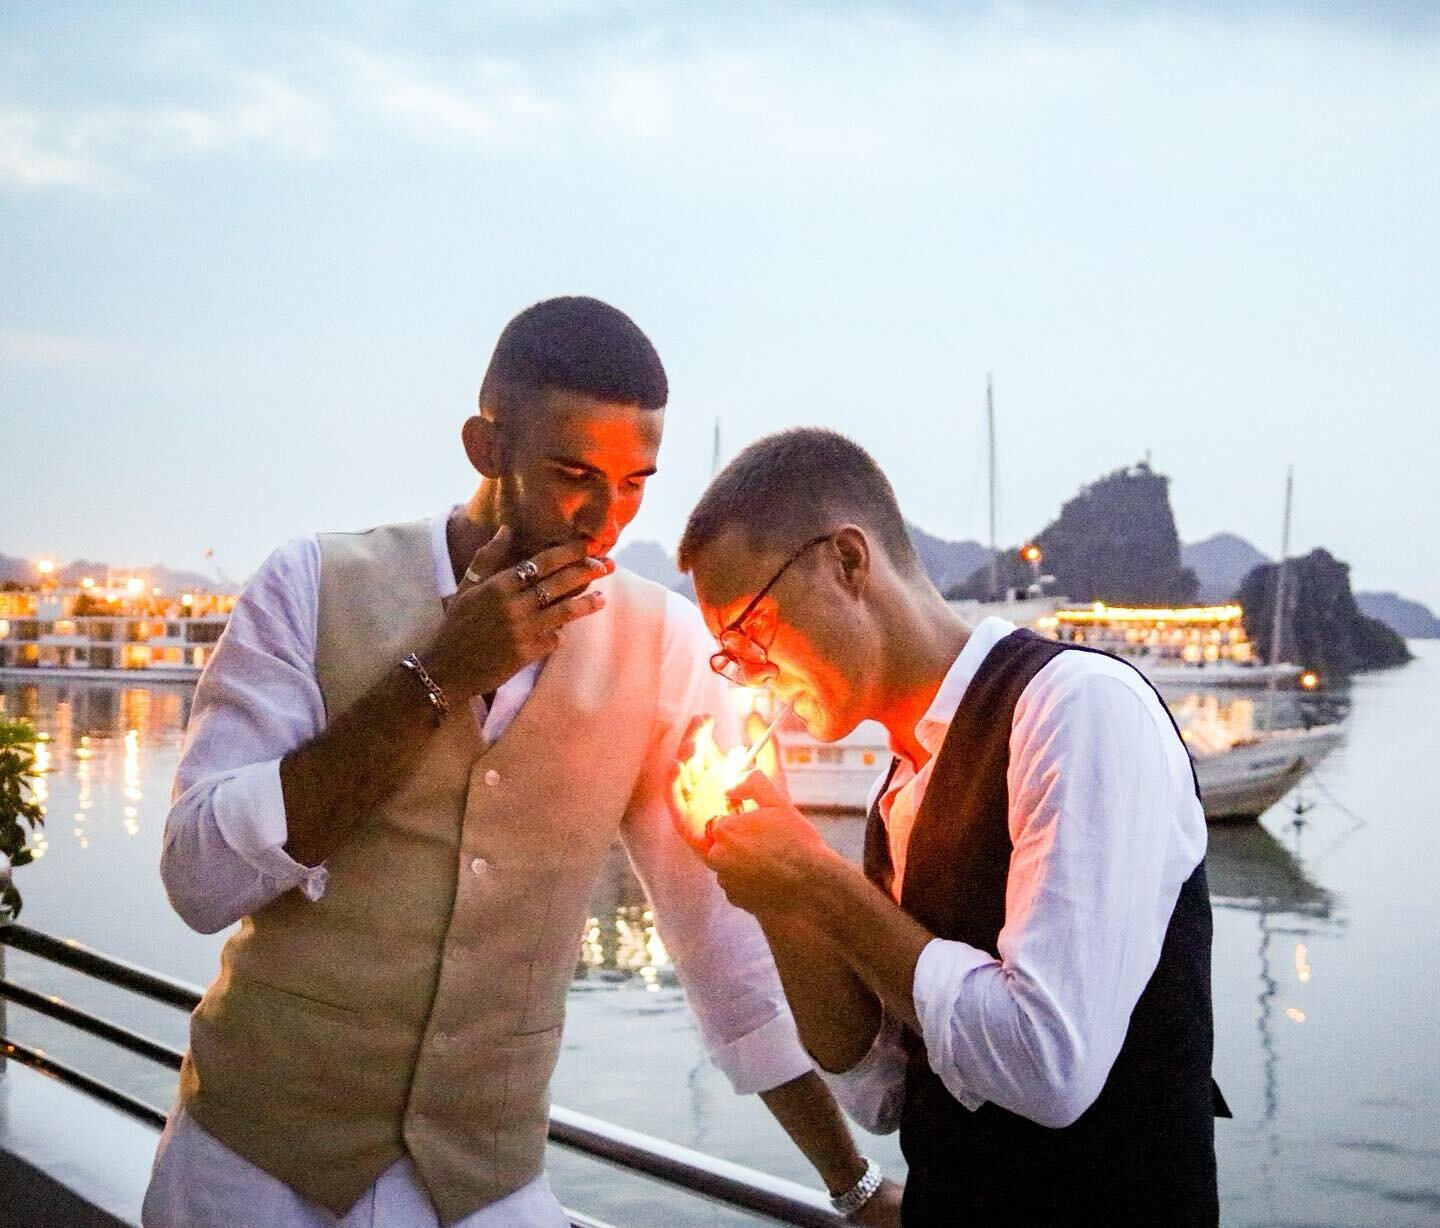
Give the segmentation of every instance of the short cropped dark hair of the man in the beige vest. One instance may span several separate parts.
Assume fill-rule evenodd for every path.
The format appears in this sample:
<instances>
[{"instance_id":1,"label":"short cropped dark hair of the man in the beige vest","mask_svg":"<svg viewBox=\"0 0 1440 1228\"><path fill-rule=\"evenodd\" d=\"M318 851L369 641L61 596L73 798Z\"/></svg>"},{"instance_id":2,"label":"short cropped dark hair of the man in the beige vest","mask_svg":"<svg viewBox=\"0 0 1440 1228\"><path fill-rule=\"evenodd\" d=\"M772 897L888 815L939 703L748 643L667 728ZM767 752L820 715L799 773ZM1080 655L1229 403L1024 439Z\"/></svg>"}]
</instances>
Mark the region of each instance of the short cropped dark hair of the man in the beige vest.
<instances>
[{"instance_id":1,"label":"short cropped dark hair of the man in the beige vest","mask_svg":"<svg viewBox=\"0 0 1440 1228\"><path fill-rule=\"evenodd\" d=\"M547 298L527 307L495 343L480 405L524 413L552 389L664 409L665 367L649 338L624 311L598 298Z\"/></svg>"}]
</instances>

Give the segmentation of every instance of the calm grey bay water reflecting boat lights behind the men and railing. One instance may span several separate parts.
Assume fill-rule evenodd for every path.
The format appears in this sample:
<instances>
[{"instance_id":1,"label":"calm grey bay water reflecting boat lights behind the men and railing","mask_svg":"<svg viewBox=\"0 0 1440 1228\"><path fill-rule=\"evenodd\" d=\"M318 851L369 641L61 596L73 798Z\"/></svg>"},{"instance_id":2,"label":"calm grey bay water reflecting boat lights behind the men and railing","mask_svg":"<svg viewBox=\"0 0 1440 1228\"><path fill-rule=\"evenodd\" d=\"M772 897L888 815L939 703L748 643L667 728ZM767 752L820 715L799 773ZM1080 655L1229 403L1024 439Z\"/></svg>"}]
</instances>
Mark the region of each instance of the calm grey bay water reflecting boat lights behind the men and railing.
<instances>
[{"instance_id":1,"label":"calm grey bay water reflecting boat lights behind the men and railing","mask_svg":"<svg viewBox=\"0 0 1440 1228\"><path fill-rule=\"evenodd\" d=\"M1436 736L1440 644L1358 680L1348 739L1259 825L1212 828L1215 1073L1234 1121L1218 1123L1227 1224L1440 1221L1440 805ZM193 934L157 875L170 776L190 690L0 681L7 715L49 733L45 857L20 877L24 921L196 983L220 937ZM1257 714L1257 724L1264 724ZM858 849L858 819L822 819ZM556 1101L713 1155L811 1180L753 1097L710 1065L624 857L592 901L595 926L570 995ZM176 1012L10 953L17 979L101 1008L173 1045ZM26 1011L10 1031L156 1104L174 1080ZM864 1139L900 1168L894 1139ZM562 1198L621 1225L739 1224L740 1215L552 1149Z\"/></svg>"}]
</instances>

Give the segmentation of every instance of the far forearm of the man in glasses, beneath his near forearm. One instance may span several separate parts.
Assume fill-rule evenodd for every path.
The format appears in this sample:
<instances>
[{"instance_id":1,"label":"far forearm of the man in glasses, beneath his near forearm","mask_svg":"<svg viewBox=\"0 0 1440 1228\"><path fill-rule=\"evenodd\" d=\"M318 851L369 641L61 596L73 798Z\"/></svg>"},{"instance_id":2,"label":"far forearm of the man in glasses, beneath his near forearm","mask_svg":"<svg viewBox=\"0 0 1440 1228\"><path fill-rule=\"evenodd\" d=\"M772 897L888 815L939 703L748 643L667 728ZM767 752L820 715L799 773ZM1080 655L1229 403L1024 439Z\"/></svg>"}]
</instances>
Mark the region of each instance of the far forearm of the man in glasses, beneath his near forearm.
<instances>
[{"instance_id":1,"label":"far forearm of the man in glasses, beneath his near forearm","mask_svg":"<svg viewBox=\"0 0 1440 1228\"><path fill-rule=\"evenodd\" d=\"M816 926L792 914L759 920L801 1042L825 1070L850 1070L880 1031L880 999Z\"/></svg>"}]
</instances>

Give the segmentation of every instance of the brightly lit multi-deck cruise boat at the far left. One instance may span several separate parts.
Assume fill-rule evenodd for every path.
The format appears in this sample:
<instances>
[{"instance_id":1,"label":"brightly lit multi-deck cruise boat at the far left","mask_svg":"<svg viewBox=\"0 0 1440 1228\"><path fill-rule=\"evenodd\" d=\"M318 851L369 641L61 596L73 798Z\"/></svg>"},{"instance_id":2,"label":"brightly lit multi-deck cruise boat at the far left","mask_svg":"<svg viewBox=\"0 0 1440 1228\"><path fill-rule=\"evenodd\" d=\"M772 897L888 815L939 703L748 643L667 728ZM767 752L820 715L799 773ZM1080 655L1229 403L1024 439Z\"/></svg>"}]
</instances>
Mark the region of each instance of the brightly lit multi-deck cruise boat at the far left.
<instances>
[{"instance_id":1,"label":"brightly lit multi-deck cruise boat at the far left","mask_svg":"<svg viewBox=\"0 0 1440 1228\"><path fill-rule=\"evenodd\" d=\"M0 675L193 681L236 597L164 593L143 577L0 592Z\"/></svg>"}]
</instances>

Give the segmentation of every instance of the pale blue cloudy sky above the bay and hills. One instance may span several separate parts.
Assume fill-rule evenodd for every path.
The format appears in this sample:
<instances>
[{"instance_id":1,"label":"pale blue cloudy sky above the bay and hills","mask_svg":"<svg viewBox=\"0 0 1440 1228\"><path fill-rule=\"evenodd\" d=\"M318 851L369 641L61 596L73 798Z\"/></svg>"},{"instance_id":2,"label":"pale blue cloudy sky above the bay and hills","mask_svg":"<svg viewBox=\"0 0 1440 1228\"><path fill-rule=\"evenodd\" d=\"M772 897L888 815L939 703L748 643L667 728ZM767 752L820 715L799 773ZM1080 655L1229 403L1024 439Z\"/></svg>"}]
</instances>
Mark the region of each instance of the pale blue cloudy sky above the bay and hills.
<instances>
[{"instance_id":1,"label":"pale blue cloudy sky above the bay and hills","mask_svg":"<svg viewBox=\"0 0 1440 1228\"><path fill-rule=\"evenodd\" d=\"M229 576L468 495L518 310L671 382L626 540L769 430L999 538L1149 455L1182 540L1440 608L1440 7L0 7L0 551Z\"/></svg>"}]
</instances>

